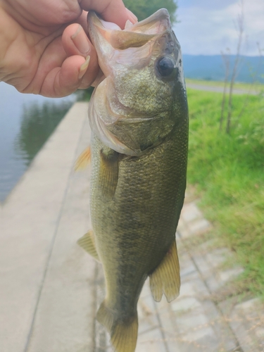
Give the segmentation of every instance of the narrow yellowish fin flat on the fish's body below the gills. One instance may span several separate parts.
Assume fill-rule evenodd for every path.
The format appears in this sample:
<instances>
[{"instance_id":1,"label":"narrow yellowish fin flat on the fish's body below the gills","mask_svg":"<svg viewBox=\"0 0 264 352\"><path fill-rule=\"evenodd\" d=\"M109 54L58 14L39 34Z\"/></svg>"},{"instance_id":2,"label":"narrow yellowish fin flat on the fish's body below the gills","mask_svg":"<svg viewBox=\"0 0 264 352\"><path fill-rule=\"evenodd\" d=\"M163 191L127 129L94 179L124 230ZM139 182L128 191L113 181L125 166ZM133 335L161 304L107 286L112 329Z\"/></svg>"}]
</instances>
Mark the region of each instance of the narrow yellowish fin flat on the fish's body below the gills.
<instances>
[{"instance_id":1,"label":"narrow yellowish fin flat on the fish's body below the gills","mask_svg":"<svg viewBox=\"0 0 264 352\"><path fill-rule=\"evenodd\" d=\"M113 198L118 184L118 153L107 148L100 152L99 182L103 194Z\"/></svg>"}]
</instances>

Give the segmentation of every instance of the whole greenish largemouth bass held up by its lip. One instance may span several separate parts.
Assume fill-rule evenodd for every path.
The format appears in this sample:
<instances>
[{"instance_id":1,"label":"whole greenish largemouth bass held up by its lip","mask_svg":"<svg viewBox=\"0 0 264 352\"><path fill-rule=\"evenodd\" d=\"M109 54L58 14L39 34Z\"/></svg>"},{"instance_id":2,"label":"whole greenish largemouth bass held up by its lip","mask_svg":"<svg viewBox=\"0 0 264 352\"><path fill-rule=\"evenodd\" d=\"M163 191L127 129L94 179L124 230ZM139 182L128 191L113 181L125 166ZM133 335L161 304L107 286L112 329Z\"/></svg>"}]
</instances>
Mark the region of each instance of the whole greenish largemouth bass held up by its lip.
<instances>
[{"instance_id":1,"label":"whole greenish largemouth bass held up by its lip","mask_svg":"<svg viewBox=\"0 0 264 352\"><path fill-rule=\"evenodd\" d=\"M96 318L117 352L137 345L137 302L180 292L175 232L184 203L188 104L180 44L164 8L125 29L88 14L103 73L89 102L92 228L78 244L103 266ZM82 159L82 157L81 157Z\"/></svg>"}]
</instances>

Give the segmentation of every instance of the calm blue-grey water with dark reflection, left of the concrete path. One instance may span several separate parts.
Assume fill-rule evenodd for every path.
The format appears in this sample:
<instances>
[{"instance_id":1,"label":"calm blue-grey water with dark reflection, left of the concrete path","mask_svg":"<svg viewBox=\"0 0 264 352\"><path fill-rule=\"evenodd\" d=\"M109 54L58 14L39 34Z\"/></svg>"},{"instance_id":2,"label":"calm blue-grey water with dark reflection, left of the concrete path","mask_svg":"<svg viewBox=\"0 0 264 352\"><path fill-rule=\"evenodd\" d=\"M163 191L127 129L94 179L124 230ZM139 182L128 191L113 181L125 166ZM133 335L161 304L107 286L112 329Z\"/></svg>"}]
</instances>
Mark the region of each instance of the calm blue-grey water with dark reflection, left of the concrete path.
<instances>
[{"instance_id":1,"label":"calm blue-grey water with dark reflection, left of the concrete path","mask_svg":"<svg viewBox=\"0 0 264 352\"><path fill-rule=\"evenodd\" d=\"M0 202L76 99L76 95L51 99L21 94L0 82Z\"/></svg>"}]
</instances>

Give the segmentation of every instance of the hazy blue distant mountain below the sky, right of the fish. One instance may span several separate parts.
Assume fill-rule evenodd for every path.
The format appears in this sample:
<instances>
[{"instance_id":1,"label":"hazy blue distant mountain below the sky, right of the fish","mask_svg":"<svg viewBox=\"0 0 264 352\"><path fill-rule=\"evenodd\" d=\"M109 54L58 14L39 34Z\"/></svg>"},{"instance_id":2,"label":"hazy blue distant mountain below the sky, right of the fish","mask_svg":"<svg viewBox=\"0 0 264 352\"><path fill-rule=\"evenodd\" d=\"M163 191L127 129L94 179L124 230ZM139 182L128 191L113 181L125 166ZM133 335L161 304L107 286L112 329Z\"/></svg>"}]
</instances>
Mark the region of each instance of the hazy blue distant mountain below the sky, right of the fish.
<instances>
[{"instance_id":1,"label":"hazy blue distant mountain below the sky, right of the fish","mask_svg":"<svg viewBox=\"0 0 264 352\"><path fill-rule=\"evenodd\" d=\"M230 55L230 72L235 56ZM221 55L183 55L184 75L195 80L225 80L225 66ZM264 57L241 56L236 82L264 83Z\"/></svg>"}]
</instances>

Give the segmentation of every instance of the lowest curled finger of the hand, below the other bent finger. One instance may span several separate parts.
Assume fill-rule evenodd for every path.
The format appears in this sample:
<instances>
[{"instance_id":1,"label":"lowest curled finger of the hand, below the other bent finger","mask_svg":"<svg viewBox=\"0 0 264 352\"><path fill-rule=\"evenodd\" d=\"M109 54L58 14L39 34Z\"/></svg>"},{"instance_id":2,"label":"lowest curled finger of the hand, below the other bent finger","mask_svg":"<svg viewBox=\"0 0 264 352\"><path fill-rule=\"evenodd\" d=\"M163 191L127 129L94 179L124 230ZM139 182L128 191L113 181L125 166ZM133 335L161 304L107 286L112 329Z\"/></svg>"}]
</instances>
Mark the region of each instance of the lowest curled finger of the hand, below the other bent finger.
<instances>
[{"instance_id":1,"label":"lowest curled finger of the hand, below the other bent finger","mask_svg":"<svg viewBox=\"0 0 264 352\"><path fill-rule=\"evenodd\" d=\"M75 92L82 84L82 75L87 71L87 62L82 56L70 56L46 75L40 94L59 98Z\"/></svg>"}]
</instances>

